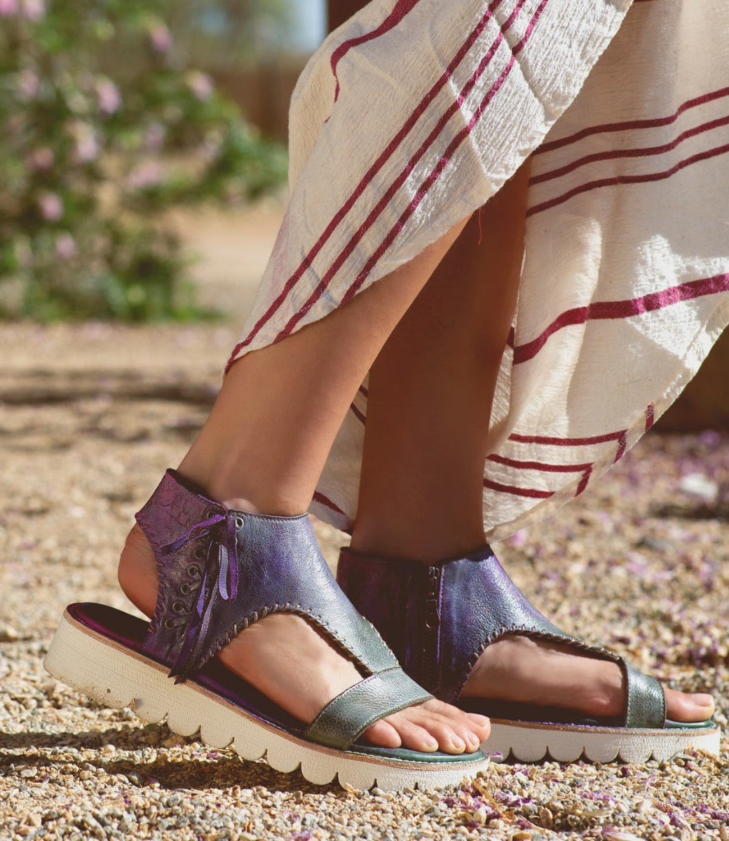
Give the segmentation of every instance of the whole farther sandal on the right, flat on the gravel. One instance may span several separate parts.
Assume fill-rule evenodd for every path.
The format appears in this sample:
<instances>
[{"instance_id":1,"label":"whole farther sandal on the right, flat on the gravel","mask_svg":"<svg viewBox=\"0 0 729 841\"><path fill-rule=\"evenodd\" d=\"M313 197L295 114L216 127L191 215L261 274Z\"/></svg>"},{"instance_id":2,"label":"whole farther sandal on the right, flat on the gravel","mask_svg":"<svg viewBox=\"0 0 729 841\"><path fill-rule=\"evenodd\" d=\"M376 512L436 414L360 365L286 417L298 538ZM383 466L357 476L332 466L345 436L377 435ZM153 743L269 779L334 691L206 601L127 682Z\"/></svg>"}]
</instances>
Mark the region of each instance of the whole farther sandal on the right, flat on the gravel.
<instances>
[{"instance_id":1,"label":"whole farther sandal on the right, flat on the gravel","mask_svg":"<svg viewBox=\"0 0 729 841\"><path fill-rule=\"evenodd\" d=\"M337 580L357 610L372 621L404 671L436 698L491 719L484 743L494 758L521 762L547 756L573 762L668 759L690 746L719 753L715 722L666 720L663 686L606 648L581 642L552 625L504 572L490 547L467 558L428 566L385 560L342 549ZM457 596L450 597L449 596ZM620 665L626 712L620 718L589 717L562 707L459 696L478 657L507 634L567 643Z\"/></svg>"}]
</instances>

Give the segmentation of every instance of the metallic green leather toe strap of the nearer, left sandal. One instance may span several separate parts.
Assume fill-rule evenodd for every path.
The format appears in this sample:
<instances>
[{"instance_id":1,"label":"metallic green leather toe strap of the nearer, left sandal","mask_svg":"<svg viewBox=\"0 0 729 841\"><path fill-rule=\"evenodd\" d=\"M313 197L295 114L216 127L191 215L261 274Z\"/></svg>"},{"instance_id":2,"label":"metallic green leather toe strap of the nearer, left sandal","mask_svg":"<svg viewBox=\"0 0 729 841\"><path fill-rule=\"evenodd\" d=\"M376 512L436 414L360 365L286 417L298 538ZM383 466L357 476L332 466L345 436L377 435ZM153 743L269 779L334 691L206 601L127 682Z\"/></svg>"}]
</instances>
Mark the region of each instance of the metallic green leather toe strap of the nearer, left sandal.
<instances>
[{"instance_id":1,"label":"metallic green leather toe strap of the nearer, left sandal","mask_svg":"<svg viewBox=\"0 0 729 841\"><path fill-rule=\"evenodd\" d=\"M304 735L311 742L346 750L374 722L432 697L402 669L386 669L336 696Z\"/></svg>"}]
</instances>

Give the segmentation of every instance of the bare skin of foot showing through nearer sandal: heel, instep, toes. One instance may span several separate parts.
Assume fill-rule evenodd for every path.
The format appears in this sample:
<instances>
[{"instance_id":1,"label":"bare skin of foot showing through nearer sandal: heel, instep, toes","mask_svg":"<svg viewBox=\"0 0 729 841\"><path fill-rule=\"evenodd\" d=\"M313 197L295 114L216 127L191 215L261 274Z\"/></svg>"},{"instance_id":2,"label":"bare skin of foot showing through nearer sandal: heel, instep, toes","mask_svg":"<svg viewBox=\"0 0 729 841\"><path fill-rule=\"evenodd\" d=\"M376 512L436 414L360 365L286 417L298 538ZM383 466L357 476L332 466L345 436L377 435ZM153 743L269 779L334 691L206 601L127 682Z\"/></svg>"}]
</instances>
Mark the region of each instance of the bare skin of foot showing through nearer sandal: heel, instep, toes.
<instances>
[{"instance_id":1,"label":"bare skin of foot showing through nearer sandal: heel, instep, toes","mask_svg":"<svg viewBox=\"0 0 729 841\"><path fill-rule=\"evenodd\" d=\"M155 609L157 569L139 526L127 537L119 561L119 584L143 613ZM354 664L341 657L307 621L275 614L240 633L218 655L235 674L302 722L311 722L335 696L362 680ZM272 668L276 664L276 668ZM383 718L365 733L383 748L473 753L489 736L489 721L442 701L426 701Z\"/></svg>"}]
</instances>

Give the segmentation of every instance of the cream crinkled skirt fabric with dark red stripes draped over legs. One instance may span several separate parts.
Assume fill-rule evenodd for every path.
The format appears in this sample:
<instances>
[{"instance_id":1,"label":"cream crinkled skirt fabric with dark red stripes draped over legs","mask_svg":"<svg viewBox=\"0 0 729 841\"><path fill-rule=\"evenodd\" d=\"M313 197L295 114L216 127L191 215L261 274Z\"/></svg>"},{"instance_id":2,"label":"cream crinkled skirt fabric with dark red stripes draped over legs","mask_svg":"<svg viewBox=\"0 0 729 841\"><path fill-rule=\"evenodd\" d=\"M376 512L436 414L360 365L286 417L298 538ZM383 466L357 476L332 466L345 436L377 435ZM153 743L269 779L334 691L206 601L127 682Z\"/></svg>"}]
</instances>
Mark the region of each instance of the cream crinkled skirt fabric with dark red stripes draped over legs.
<instances>
[{"instance_id":1,"label":"cream crinkled skirt fabric with dark red stripes draped over legs","mask_svg":"<svg viewBox=\"0 0 729 841\"><path fill-rule=\"evenodd\" d=\"M231 361L415 257L533 153L489 537L582 493L729 320L727 24L729 0L370 3L298 82L290 204ZM341 528L366 417L363 383L312 509Z\"/></svg>"}]
</instances>

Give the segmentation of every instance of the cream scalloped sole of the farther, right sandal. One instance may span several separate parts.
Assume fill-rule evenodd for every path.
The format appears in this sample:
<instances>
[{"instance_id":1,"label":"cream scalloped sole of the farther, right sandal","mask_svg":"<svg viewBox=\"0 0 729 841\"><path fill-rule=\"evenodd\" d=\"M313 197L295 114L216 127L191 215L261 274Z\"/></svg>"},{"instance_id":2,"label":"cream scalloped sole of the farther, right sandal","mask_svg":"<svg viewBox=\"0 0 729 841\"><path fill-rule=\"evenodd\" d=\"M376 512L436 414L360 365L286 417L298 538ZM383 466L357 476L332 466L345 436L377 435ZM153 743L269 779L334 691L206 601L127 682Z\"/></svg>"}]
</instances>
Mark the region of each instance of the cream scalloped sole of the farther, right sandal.
<instances>
[{"instance_id":1,"label":"cream scalloped sole of the farther, right sandal","mask_svg":"<svg viewBox=\"0 0 729 841\"><path fill-rule=\"evenodd\" d=\"M491 754L494 762L511 757L518 762L588 759L599 763L620 759L627 764L640 764L651 758L671 759L688 748L718 756L720 742L718 727L626 730L625 727L547 725L492 719L489 741L481 747Z\"/></svg>"}]
</instances>

